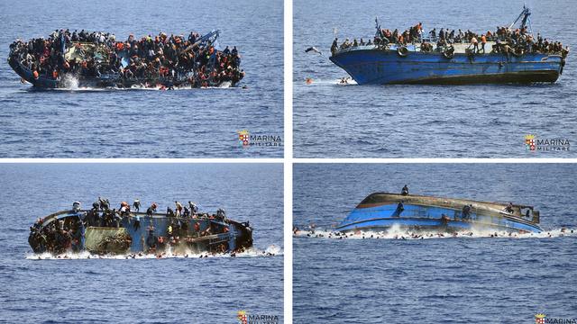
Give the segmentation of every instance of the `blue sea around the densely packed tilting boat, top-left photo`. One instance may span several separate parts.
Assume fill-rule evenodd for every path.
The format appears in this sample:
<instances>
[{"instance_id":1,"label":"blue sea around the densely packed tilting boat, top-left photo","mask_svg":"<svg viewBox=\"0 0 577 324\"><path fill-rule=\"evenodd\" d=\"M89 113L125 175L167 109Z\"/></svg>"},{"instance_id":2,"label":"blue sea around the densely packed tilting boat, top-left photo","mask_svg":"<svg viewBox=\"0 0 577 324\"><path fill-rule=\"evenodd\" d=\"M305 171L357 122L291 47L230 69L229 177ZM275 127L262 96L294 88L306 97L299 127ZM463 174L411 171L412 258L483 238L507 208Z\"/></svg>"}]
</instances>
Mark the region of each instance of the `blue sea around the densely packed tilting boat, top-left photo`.
<instances>
[{"instance_id":1,"label":"blue sea around the densely packed tilting boat, top-left photo","mask_svg":"<svg viewBox=\"0 0 577 324\"><path fill-rule=\"evenodd\" d=\"M282 157L237 130L283 138L281 0L0 2L0 157ZM8 66L16 39L110 31L119 40L219 29L246 72L237 88L35 91ZM242 86L246 88L243 89Z\"/></svg>"}]
</instances>

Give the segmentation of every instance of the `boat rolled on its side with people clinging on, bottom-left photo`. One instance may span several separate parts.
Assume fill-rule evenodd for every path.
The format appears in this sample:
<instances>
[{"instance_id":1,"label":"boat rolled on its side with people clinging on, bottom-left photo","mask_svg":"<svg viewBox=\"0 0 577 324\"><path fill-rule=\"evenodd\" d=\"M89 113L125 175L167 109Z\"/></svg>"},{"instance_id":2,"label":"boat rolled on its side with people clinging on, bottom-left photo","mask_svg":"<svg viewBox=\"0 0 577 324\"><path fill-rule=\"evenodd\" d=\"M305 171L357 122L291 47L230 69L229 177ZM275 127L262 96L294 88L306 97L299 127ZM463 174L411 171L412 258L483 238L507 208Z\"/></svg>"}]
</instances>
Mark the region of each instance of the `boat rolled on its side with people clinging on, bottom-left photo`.
<instances>
[{"instance_id":1,"label":"boat rolled on its side with people clinging on, bottom-left photo","mask_svg":"<svg viewBox=\"0 0 577 324\"><path fill-rule=\"evenodd\" d=\"M35 253L59 255L88 251L94 254L172 254L242 252L252 247L248 221L229 220L224 212L209 215L101 209L58 211L37 220L28 242Z\"/></svg>"}]
</instances>

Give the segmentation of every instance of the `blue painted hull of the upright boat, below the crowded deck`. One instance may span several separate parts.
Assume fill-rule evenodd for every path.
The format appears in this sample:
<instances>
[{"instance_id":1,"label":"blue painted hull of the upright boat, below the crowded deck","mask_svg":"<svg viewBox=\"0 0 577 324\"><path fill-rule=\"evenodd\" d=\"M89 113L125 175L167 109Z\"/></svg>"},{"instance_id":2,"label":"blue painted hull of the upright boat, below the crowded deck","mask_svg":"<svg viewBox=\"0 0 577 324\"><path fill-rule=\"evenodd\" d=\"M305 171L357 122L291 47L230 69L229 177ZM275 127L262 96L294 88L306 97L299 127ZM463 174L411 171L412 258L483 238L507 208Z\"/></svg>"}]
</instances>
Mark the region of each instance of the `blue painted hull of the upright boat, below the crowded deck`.
<instances>
[{"instance_id":1,"label":"blue painted hull of the upright boat, below the crowded deck","mask_svg":"<svg viewBox=\"0 0 577 324\"><path fill-rule=\"evenodd\" d=\"M347 49L330 59L342 67L359 85L478 83L554 83L563 72L560 55L530 53L516 57L479 54L469 57L455 53L444 58L439 52L414 51L401 57L393 46Z\"/></svg>"}]
</instances>

